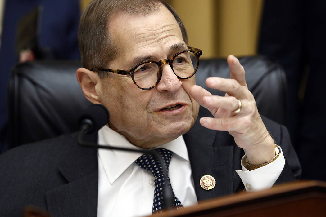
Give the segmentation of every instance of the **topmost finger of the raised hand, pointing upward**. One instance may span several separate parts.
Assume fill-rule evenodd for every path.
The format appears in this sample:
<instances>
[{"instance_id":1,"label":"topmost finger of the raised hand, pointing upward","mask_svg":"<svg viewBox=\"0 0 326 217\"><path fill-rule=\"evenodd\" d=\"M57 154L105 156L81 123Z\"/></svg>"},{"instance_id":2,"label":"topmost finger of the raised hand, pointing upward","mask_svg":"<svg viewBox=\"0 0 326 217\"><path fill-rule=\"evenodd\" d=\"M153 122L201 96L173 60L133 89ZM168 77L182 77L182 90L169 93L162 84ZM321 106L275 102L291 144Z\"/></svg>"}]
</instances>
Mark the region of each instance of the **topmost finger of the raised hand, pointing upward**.
<instances>
[{"instance_id":1,"label":"topmost finger of the raised hand, pointing upward","mask_svg":"<svg viewBox=\"0 0 326 217\"><path fill-rule=\"evenodd\" d=\"M247 86L245 82L244 67L240 64L238 58L233 55L229 55L227 62L230 67L230 78L237 80L241 86Z\"/></svg>"}]
</instances>

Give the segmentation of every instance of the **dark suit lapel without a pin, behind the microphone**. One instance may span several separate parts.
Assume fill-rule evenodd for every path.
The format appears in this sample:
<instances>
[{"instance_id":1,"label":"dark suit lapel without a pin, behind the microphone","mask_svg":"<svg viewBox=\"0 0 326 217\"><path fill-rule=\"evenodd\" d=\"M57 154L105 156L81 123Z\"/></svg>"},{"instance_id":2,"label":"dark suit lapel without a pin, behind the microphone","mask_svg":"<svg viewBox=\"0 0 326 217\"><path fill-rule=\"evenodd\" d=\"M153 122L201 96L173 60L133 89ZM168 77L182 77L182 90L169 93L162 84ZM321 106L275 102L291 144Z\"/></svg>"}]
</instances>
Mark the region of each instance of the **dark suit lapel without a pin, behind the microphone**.
<instances>
[{"instance_id":1,"label":"dark suit lapel without a pin, behind the microphone","mask_svg":"<svg viewBox=\"0 0 326 217\"><path fill-rule=\"evenodd\" d=\"M97 133L86 140L96 142ZM68 183L46 193L49 212L53 216L97 216L97 149L73 144L58 170Z\"/></svg>"}]
</instances>

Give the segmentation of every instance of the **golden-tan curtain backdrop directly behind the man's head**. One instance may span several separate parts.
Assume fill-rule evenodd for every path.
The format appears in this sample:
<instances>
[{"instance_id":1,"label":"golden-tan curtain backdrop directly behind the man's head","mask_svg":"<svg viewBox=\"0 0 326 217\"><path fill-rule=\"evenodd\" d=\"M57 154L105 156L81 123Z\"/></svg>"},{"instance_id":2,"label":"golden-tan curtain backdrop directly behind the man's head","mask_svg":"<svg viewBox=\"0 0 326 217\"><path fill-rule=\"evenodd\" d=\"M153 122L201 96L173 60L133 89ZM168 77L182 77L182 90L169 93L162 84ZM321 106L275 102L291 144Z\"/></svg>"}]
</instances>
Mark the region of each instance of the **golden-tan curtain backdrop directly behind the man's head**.
<instances>
[{"instance_id":1,"label":"golden-tan curtain backdrop directly behind the man's head","mask_svg":"<svg viewBox=\"0 0 326 217\"><path fill-rule=\"evenodd\" d=\"M82 9L90 0L81 0ZM255 55L263 0L168 0L204 58Z\"/></svg>"}]
</instances>

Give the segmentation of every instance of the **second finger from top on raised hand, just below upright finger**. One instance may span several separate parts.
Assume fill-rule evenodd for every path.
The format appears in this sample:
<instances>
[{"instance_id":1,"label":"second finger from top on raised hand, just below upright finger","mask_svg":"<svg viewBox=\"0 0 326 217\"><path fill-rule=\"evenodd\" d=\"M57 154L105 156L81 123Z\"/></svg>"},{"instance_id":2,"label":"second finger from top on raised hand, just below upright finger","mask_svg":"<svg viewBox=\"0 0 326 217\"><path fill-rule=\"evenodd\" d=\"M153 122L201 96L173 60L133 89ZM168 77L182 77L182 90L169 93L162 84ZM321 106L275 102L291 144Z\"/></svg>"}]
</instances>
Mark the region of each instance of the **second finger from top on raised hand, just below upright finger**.
<instances>
[{"instance_id":1,"label":"second finger from top on raised hand, just below upright finger","mask_svg":"<svg viewBox=\"0 0 326 217\"><path fill-rule=\"evenodd\" d=\"M230 96L242 99L246 93L246 89L243 88L237 80L221 78L221 77L209 77L206 79L206 86L212 89L218 89L228 93Z\"/></svg>"}]
</instances>

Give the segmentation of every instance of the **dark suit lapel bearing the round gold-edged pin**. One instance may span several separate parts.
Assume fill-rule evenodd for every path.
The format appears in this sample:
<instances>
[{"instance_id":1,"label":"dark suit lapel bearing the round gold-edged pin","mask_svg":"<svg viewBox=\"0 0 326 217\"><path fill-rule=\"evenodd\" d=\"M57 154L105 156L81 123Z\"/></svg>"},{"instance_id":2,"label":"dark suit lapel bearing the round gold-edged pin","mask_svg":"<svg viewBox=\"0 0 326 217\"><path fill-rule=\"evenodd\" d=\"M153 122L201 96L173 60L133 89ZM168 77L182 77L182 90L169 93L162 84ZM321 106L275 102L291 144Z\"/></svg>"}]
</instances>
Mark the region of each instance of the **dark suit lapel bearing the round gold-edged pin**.
<instances>
[{"instance_id":1,"label":"dark suit lapel bearing the round gold-edged pin","mask_svg":"<svg viewBox=\"0 0 326 217\"><path fill-rule=\"evenodd\" d=\"M198 201L234 192L233 145L227 146L231 138L228 132L202 127L199 118L194 127L184 135ZM201 188L200 178L204 175L215 178L213 189Z\"/></svg>"}]
</instances>

